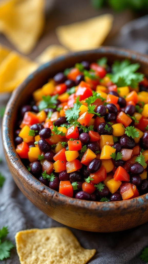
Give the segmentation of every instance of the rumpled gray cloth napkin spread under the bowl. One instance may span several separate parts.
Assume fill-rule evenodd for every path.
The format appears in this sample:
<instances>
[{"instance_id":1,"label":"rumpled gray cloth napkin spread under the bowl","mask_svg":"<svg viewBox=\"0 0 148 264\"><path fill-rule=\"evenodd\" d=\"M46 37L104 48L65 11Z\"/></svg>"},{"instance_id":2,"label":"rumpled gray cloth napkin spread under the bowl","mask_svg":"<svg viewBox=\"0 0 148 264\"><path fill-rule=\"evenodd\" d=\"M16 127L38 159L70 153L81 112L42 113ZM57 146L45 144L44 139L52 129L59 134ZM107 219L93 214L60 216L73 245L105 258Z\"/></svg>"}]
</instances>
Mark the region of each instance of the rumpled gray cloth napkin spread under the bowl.
<instances>
[{"instance_id":1,"label":"rumpled gray cloth napkin spread under the bowl","mask_svg":"<svg viewBox=\"0 0 148 264\"><path fill-rule=\"evenodd\" d=\"M125 25L121 30L120 37L117 38L118 41L116 40L114 45L146 53L148 52L147 32L148 16L133 21L127 26ZM0 107L5 105L7 100L7 95L0 95ZM15 244L14 236L19 230L63 226L38 210L19 191L4 159L2 141L0 141L0 150L0 157L3 158L3 162L0 164L0 171L6 177L3 187L0 188L0 228L8 226L8 239ZM139 255L142 249L148 246L148 223L134 229L116 233L91 233L73 228L69 229L77 237L81 246L96 249L95 256L88 263L144 264ZM19 264L16 248L11 250L10 258L1 261L1 263Z\"/></svg>"}]
</instances>

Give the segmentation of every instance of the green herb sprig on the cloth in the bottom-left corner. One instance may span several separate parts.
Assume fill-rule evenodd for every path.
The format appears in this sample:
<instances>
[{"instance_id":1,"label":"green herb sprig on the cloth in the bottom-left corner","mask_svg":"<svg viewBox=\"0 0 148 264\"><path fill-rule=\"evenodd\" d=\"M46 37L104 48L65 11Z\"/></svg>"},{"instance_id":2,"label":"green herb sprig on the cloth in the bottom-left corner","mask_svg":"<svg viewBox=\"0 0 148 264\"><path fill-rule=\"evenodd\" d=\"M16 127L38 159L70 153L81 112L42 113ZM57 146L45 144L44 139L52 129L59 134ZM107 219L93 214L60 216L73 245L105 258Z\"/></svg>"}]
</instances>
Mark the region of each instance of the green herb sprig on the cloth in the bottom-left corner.
<instances>
[{"instance_id":1,"label":"green herb sprig on the cloth in the bottom-left corner","mask_svg":"<svg viewBox=\"0 0 148 264\"><path fill-rule=\"evenodd\" d=\"M11 241L4 240L8 234L8 227L0 229L0 260L10 257L10 250L14 247Z\"/></svg>"}]
</instances>

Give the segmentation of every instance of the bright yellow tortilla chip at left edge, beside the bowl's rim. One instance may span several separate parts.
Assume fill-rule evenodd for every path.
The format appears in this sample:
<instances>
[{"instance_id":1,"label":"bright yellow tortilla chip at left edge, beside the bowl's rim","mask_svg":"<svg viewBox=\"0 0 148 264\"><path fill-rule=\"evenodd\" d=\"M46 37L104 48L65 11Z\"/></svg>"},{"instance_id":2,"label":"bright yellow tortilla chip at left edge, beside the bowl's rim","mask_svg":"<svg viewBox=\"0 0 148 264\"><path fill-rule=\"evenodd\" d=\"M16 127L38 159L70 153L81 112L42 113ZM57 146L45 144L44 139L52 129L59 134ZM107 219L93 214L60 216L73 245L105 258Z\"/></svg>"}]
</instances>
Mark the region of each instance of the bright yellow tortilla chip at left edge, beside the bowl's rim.
<instances>
[{"instance_id":1,"label":"bright yellow tortilla chip at left edge, beside the bowl's rim","mask_svg":"<svg viewBox=\"0 0 148 264\"><path fill-rule=\"evenodd\" d=\"M0 64L0 92L12 92L38 64L11 51Z\"/></svg>"}]
</instances>

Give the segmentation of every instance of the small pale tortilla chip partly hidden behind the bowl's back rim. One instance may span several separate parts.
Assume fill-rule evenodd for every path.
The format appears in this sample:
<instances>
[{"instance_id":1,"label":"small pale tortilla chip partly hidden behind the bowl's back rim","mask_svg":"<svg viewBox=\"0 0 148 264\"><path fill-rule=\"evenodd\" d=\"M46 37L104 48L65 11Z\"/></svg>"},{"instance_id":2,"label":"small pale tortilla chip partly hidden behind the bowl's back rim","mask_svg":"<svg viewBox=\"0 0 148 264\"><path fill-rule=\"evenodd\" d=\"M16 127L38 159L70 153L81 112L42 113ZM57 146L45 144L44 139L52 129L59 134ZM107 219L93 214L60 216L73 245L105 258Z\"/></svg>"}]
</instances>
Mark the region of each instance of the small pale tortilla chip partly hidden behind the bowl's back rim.
<instances>
[{"instance_id":1,"label":"small pale tortilla chip partly hidden behind the bowl's back rim","mask_svg":"<svg viewBox=\"0 0 148 264\"><path fill-rule=\"evenodd\" d=\"M43 64L67 52L68 50L63 46L50 45L36 58L36 61Z\"/></svg>"}]
</instances>

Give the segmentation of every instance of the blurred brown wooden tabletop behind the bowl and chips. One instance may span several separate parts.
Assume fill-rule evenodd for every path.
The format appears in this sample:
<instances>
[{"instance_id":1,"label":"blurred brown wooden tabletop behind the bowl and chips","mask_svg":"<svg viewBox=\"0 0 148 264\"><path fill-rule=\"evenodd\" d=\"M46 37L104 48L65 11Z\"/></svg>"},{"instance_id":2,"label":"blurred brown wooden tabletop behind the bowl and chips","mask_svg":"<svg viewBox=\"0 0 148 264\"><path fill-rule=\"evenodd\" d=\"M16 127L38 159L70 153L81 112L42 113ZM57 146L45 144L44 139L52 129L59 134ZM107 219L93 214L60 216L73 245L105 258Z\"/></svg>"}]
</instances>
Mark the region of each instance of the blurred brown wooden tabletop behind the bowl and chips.
<instances>
[{"instance_id":1,"label":"blurred brown wooden tabletop behind the bowl and chips","mask_svg":"<svg viewBox=\"0 0 148 264\"><path fill-rule=\"evenodd\" d=\"M110 40L118 34L120 28L127 22L136 18L137 15L131 11L122 11L116 13L110 8L101 8L95 10L91 5L91 0L55 0L52 9L50 3L52 0L46 0L46 23L43 33L36 44L33 51L28 54L28 57L35 59L48 45L60 44L58 42L55 29L59 25L67 25L69 23L81 21L87 18L98 16L105 13L111 13L114 16L112 30L107 36L103 45L109 45ZM0 34L0 43L15 50L14 46L9 43L6 37Z\"/></svg>"}]
</instances>

